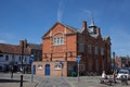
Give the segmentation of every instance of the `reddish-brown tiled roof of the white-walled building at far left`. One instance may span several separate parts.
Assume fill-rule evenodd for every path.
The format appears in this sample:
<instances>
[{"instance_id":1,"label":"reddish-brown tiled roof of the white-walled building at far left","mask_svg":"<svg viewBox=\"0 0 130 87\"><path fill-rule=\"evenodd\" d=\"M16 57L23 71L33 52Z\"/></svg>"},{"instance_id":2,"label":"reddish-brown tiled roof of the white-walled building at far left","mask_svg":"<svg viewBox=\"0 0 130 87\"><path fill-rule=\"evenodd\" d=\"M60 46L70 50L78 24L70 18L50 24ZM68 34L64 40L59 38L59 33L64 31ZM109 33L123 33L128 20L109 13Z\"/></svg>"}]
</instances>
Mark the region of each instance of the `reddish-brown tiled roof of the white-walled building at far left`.
<instances>
[{"instance_id":1,"label":"reddish-brown tiled roof of the white-walled building at far left","mask_svg":"<svg viewBox=\"0 0 130 87\"><path fill-rule=\"evenodd\" d=\"M0 44L0 52L9 54L22 54L22 47L9 44ZM24 54L29 54L27 48L24 49Z\"/></svg>"}]
</instances>

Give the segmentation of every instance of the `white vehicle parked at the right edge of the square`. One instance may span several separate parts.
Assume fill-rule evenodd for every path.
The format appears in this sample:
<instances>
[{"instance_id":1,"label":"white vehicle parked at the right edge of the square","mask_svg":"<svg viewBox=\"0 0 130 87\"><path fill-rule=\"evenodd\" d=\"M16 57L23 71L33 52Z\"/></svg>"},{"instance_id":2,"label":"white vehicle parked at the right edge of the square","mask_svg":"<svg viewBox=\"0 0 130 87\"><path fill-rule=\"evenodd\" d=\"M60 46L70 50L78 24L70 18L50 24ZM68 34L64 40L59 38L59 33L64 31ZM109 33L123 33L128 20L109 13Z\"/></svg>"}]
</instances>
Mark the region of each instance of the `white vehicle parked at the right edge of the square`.
<instances>
[{"instance_id":1,"label":"white vehicle parked at the right edge of the square","mask_svg":"<svg viewBox=\"0 0 130 87\"><path fill-rule=\"evenodd\" d=\"M121 77L126 76L127 79L130 79L130 70L121 69L117 74L117 79L121 79Z\"/></svg>"}]
</instances>

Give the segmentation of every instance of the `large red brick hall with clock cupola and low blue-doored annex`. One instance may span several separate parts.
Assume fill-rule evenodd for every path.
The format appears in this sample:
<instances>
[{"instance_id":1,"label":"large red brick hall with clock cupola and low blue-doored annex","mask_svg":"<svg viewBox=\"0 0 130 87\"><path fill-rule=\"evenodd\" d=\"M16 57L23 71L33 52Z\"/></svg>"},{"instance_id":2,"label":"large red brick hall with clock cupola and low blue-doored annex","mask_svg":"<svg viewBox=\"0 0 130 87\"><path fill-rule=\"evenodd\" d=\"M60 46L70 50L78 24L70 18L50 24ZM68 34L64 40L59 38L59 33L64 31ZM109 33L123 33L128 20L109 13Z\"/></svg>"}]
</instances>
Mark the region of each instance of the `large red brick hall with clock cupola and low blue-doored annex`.
<instances>
[{"instance_id":1,"label":"large red brick hall with clock cupola and low blue-doored annex","mask_svg":"<svg viewBox=\"0 0 130 87\"><path fill-rule=\"evenodd\" d=\"M34 63L37 75L69 76L72 72L77 72L78 55L81 58L80 75L109 71L110 38L102 37L93 20L89 27L86 21L82 22L81 29L57 22L42 39L42 62Z\"/></svg>"}]
</instances>

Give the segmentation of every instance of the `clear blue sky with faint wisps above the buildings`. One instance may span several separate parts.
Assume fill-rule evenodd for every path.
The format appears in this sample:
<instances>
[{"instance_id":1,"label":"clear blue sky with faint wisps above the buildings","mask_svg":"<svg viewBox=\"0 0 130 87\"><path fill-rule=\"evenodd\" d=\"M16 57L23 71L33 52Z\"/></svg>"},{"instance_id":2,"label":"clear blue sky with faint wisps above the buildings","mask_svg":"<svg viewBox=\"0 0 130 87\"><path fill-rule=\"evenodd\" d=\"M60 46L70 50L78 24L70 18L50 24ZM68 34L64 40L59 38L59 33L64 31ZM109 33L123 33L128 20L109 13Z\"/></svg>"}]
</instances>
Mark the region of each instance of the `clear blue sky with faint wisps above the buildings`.
<instances>
[{"instance_id":1,"label":"clear blue sky with faint wisps above the buildings","mask_svg":"<svg viewBox=\"0 0 130 87\"><path fill-rule=\"evenodd\" d=\"M130 0L0 0L0 42L42 44L56 23L81 28L91 17L103 37L110 36L112 52L130 55Z\"/></svg>"}]
</instances>

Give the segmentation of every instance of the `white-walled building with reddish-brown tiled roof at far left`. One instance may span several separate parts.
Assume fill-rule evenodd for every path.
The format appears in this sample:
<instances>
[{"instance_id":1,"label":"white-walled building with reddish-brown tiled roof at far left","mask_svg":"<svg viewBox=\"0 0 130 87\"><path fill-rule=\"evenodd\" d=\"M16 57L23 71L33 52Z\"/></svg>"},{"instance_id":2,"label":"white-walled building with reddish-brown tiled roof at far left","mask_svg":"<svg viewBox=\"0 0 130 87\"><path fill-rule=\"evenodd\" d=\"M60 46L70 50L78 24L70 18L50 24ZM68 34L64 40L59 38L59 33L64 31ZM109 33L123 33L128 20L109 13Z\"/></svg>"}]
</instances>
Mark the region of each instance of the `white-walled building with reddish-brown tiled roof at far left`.
<instances>
[{"instance_id":1,"label":"white-walled building with reddish-brown tiled roof at far left","mask_svg":"<svg viewBox=\"0 0 130 87\"><path fill-rule=\"evenodd\" d=\"M0 71L14 72L21 71L22 67L22 46L0 44ZM24 49L23 67L29 65L29 52Z\"/></svg>"}]
</instances>

